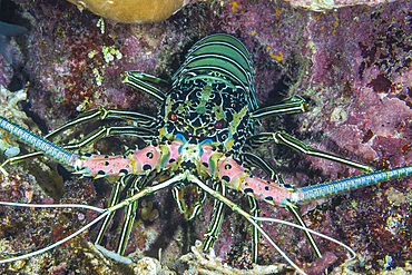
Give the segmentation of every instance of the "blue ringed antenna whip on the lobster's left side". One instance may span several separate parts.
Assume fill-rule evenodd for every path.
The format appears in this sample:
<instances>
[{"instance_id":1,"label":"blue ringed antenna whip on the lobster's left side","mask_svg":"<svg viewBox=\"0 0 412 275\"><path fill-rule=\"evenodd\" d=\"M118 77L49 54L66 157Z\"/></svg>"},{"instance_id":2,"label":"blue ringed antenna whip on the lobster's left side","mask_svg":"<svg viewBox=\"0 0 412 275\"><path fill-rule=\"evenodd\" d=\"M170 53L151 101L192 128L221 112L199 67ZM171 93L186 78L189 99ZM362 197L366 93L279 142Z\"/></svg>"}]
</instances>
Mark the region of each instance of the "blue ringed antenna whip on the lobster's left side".
<instances>
[{"instance_id":1,"label":"blue ringed antenna whip on the lobster's left side","mask_svg":"<svg viewBox=\"0 0 412 275\"><path fill-rule=\"evenodd\" d=\"M50 143L49 140L46 140L42 137L39 137L38 135L24 128L21 128L20 126L7 120L3 117L0 117L0 127L28 143L36 149L41 150L50 157L56 158L60 163L70 167L75 167L78 155L68 151L53 143Z\"/></svg>"}]
</instances>

